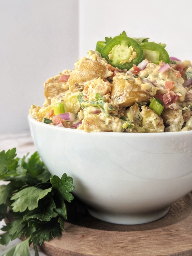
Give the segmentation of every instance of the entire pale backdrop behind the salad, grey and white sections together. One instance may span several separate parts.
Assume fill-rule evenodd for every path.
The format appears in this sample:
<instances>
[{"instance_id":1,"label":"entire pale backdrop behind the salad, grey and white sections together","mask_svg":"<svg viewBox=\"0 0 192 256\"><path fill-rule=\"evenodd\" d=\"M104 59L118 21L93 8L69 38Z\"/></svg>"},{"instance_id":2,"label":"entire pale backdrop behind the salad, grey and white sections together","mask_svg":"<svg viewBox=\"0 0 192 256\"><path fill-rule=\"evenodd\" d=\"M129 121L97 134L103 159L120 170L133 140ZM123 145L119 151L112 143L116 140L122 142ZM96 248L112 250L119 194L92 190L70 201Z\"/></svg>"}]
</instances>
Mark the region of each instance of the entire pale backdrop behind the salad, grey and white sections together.
<instances>
[{"instance_id":1,"label":"entire pale backdrop behind the salad, grey and white sections together","mask_svg":"<svg viewBox=\"0 0 192 256\"><path fill-rule=\"evenodd\" d=\"M47 78L72 69L105 36L125 30L192 60L191 10L191 0L0 0L0 133L28 129Z\"/></svg>"}]
</instances>

